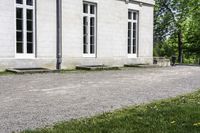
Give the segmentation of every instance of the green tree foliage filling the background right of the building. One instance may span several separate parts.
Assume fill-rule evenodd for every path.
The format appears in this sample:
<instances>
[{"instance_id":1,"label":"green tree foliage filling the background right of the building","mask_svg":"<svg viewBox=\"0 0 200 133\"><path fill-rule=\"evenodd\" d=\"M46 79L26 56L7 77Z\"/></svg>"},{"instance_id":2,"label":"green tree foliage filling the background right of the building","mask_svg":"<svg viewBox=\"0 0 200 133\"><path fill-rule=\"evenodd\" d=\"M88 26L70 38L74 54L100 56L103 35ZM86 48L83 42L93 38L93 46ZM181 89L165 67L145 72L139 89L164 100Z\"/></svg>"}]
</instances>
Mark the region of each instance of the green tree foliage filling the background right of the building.
<instances>
[{"instance_id":1,"label":"green tree foliage filling the background right of the building","mask_svg":"<svg viewBox=\"0 0 200 133\"><path fill-rule=\"evenodd\" d=\"M158 53L157 56L169 57L176 52L180 62L182 57L185 58L185 62L191 60L190 58L199 58L200 1L156 0L155 2L154 53ZM171 47L172 44L174 47ZM169 48L176 50L169 52Z\"/></svg>"}]
</instances>

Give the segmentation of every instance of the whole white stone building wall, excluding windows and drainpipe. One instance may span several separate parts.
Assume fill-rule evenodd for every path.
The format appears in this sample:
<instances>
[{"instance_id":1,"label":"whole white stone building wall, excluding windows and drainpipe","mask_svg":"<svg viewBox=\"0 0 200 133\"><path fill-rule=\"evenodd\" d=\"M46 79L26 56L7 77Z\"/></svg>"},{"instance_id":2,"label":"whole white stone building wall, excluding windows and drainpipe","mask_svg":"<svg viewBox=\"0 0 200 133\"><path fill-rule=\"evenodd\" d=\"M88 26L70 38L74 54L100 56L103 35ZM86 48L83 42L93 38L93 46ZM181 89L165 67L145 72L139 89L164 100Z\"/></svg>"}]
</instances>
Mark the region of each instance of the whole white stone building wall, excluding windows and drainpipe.
<instances>
[{"instance_id":1,"label":"whole white stone building wall, excluding windows and drainpipe","mask_svg":"<svg viewBox=\"0 0 200 133\"><path fill-rule=\"evenodd\" d=\"M76 65L152 63L153 6L120 0L87 0L97 3L97 57L83 57L82 0L63 0L63 68ZM153 0L148 1L152 4ZM139 11L138 58L127 56L128 9ZM15 58L15 5L0 1L0 68L50 67L56 63L56 0L37 1L35 59ZM3 18L3 19L2 19Z\"/></svg>"}]
</instances>

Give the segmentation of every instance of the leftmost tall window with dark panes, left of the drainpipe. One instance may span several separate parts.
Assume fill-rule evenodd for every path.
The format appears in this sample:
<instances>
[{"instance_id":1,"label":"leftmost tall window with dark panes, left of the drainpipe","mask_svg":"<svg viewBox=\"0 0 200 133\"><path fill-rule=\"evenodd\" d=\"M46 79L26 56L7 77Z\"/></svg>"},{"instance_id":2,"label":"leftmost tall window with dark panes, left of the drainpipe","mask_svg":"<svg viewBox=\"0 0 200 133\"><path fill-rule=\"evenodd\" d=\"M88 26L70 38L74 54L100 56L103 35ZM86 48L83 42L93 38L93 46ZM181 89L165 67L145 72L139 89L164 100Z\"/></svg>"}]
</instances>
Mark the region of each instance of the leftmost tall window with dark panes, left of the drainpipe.
<instances>
[{"instance_id":1,"label":"leftmost tall window with dark panes, left of the drainpipe","mask_svg":"<svg viewBox=\"0 0 200 133\"><path fill-rule=\"evenodd\" d=\"M16 55L34 57L34 0L16 0Z\"/></svg>"}]
</instances>

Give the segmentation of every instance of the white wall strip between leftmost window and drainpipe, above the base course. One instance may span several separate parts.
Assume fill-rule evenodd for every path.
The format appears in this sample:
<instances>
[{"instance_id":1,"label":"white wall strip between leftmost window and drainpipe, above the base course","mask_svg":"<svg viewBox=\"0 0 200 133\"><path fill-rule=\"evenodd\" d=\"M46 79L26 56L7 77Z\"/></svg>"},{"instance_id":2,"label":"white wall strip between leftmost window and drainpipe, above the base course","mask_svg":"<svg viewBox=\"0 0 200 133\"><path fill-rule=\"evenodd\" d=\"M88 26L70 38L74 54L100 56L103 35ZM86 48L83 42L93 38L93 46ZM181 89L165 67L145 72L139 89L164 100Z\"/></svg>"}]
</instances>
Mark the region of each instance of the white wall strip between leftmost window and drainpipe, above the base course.
<instances>
[{"instance_id":1,"label":"white wall strip between leftmost window and drainpipe, above the base course","mask_svg":"<svg viewBox=\"0 0 200 133\"><path fill-rule=\"evenodd\" d=\"M56 58L56 0L38 0L37 58Z\"/></svg>"}]
</instances>

